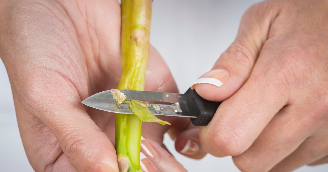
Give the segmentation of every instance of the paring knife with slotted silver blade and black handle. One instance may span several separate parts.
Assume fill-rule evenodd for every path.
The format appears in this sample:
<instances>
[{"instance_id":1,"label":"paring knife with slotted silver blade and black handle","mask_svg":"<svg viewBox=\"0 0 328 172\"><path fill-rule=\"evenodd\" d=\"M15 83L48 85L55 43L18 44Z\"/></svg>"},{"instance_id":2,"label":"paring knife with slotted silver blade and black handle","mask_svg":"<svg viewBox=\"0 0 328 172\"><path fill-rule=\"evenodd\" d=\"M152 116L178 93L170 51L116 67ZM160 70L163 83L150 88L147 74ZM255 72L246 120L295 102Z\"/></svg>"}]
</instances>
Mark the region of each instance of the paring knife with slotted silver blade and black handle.
<instances>
[{"instance_id":1,"label":"paring knife with slotted silver blade and black handle","mask_svg":"<svg viewBox=\"0 0 328 172\"><path fill-rule=\"evenodd\" d=\"M201 98L195 90L189 88L186 93L165 93L153 91L120 90L126 97L125 100L141 100L151 102L169 102L167 104L147 104L154 115L175 117L190 117L195 126L207 125L214 116L221 102L211 102ZM113 99L111 90L94 94L82 101L83 104L95 109L133 114L128 104L122 103L119 109Z\"/></svg>"}]
</instances>

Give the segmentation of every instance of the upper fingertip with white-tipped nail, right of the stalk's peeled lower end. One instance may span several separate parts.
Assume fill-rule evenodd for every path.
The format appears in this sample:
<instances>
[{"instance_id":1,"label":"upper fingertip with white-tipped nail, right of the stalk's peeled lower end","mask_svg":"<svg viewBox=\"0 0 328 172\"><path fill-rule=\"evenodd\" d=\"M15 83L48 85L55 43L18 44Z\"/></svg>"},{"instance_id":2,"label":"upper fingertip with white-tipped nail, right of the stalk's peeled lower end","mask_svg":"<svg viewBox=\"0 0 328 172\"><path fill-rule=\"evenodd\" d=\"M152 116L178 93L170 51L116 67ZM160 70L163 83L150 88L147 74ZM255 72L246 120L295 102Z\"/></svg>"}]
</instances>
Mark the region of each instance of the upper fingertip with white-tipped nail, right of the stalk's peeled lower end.
<instances>
[{"instance_id":1,"label":"upper fingertip with white-tipped nail, right of the stalk's peeled lower end","mask_svg":"<svg viewBox=\"0 0 328 172\"><path fill-rule=\"evenodd\" d=\"M186 172L182 164L177 162L170 153L152 139L141 138L141 152L146 155L150 163L153 164L154 169L158 172Z\"/></svg>"}]
</instances>

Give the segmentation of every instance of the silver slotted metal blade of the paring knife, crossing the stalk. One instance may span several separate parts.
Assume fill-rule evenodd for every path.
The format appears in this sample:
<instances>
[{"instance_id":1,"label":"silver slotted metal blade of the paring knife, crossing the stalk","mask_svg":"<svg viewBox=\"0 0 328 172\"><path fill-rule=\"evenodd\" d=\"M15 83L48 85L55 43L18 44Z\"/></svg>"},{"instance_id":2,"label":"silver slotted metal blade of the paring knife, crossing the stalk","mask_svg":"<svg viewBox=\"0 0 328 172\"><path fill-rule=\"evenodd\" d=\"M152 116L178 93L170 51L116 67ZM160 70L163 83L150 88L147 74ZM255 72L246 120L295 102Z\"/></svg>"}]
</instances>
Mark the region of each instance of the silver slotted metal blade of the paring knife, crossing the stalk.
<instances>
[{"instance_id":1,"label":"silver slotted metal blade of the paring knife, crossing the stalk","mask_svg":"<svg viewBox=\"0 0 328 172\"><path fill-rule=\"evenodd\" d=\"M163 92L152 92L152 91L134 91L134 90L120 90L125 96L126 100L142 100L142 101L154 101L154 102L175 102L174 104L147 104L149 110L154 115L164 115L164 116L178 116L178 117L194 117L184 115L180 109L180 98L184 96L183 94L177 93L163 93ZM168 96L167 96L168 95ZM120 114L133 114L128 104L122 103L120 107L117 108L115 101L113 99L112 92L110 90L103 91L94 94L87 99L82 101L83 104L90 106L95 109L120 113Z\"/></svg>"}]
</instances>

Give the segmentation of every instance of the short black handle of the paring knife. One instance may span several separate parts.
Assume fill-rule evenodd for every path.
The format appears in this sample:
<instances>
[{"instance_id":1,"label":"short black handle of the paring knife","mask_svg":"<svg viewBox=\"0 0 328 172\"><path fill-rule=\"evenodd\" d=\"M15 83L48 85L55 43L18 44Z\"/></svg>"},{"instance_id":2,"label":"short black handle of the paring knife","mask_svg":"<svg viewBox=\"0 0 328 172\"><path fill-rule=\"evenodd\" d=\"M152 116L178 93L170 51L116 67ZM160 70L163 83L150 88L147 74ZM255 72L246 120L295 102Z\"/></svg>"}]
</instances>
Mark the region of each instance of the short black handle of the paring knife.
<instances>
[{"instance_id":1,"label":"short black handle of the paring knife","mask_svg":"<svg viewBox=\"0 0 328 172\"><path fill-rule=\"evenodd\" d=\"M221 102L211 102L200 97L195 90L189 88L181 99L180 107L184 114L195 116L190 118L195 126L207 125L213 118Z\"/></svg>"}]
</instances>

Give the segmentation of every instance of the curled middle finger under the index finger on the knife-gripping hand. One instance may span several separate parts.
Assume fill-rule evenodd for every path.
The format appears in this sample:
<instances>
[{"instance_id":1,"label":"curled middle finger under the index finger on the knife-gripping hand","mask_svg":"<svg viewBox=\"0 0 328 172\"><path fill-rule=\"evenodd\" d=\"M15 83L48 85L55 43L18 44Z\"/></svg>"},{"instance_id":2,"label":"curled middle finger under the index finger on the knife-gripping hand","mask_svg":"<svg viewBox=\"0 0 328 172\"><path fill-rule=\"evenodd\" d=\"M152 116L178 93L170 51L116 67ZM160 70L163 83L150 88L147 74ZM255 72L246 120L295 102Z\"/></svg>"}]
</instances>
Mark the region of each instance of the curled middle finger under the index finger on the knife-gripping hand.
<instances>
[{"instance_id":1,"label":"curled middle finger under the index finger on the knife-gripping hand","mask_svg":"<svg viewBox=\"0 0 328 172\"><path fill-rule=\"evenodd\" d=\"M308 109L298 106L284 107L265 127L250 148L241 155L233 157L236 166L241 171L269 171L294 152L311 135L313 131L309 128L313 124L305 119L308 114ZM301 122L300 117L302 121L307 122ZM291 164L283 164L286 165L286 169L287 166L297 164L297 162L289 163Z\"/></svg>"}]
</instances>

